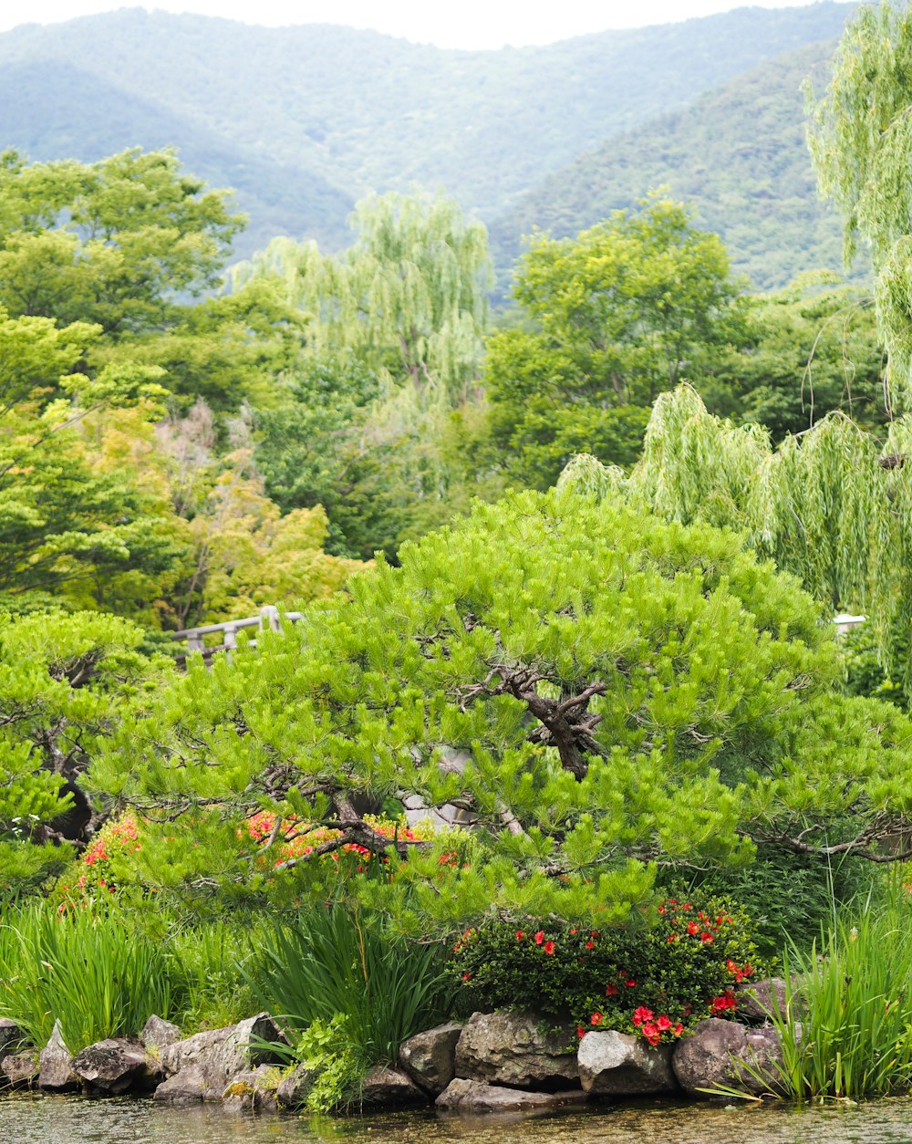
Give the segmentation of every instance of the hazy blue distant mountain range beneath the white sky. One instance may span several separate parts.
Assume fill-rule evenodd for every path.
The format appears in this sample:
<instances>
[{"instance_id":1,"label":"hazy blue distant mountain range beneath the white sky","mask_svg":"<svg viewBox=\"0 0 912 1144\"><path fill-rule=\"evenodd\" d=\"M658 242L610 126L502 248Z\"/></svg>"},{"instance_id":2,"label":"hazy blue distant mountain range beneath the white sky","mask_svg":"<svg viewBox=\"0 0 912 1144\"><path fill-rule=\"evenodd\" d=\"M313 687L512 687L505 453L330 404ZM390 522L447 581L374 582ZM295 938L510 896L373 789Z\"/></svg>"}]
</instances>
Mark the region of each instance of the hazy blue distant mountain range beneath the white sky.
<instances>
[{"instance_id":1,"label":"hazy blue distant mountain range beneath the white sky","mask_svg":"<svg viewBox=\"0 0 912 1144\"><path fill-rule=\"evenodd\" d=\"M336 245L371 190L443 188L485 220L524 209L582 151L832 41L852 9L740 8L499 51L121 9L0 35L0 145L94 159L172 143L238 186L257 244L271 228Z\"/></svg>"}]
</instances>

